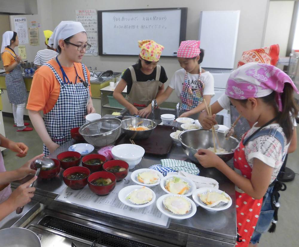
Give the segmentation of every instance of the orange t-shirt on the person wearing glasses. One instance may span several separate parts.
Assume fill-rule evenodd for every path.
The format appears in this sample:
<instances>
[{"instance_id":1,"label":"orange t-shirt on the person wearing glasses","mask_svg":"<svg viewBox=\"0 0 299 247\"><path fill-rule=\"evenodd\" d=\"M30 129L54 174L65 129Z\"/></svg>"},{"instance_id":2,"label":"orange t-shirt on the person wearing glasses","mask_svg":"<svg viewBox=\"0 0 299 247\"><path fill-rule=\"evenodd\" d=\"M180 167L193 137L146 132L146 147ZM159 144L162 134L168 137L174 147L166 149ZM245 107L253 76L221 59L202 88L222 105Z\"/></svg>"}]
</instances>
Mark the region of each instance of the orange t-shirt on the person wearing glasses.
<instances>
[{"instance_id":1,"label":"orange t-shirt on the person wearing glasses","mask_svg":"<svg viewBox=\"0 0 299 247\"><path fill-rule=\"evenodd\" d=\"M48 63L54 67L54 69L57 71L57 73L63 80L62 72L55 58L48 61ZM80 63L74 63L74 65L76 66L78 75L82 78L82 80L84 80L82 65ZM62 66L62 68L65 71L65 74L67 75L68 79L74 83L76 79L76 71L74 66L72 67ZM86 68L86 72L87 72L88 82L90 84L90 72L87 68ZM79 78L77 78L77 83L81 83ZM89 86L89 92L91 95L90 86ZM60 94L60 83L57 81L54 72L48 66L42 66L38 70L36 70L35 74L33 75L33 80L31 84L31 89L30 89L26 109L33 110L33 111L43 110L44 114L48 113L55 106L59 94Z\"/></svg>"}]
</instances>

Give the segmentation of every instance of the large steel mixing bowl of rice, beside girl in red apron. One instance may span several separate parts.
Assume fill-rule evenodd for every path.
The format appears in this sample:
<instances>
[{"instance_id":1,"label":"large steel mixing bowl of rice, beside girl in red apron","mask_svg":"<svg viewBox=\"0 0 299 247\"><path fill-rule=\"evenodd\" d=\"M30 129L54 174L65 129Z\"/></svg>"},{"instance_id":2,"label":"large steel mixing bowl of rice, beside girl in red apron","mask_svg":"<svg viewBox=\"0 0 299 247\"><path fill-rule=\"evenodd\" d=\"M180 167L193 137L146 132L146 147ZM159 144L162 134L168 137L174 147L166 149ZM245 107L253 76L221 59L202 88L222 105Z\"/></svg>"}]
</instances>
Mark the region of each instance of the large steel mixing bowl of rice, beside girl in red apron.
<instances>
[{"instance_id":1,"label":"large steel mixing bowl of rice, beside girl in red apron","mask_svg":"<svg viewBox=\"0 0 299 247\"><path fill-rule=\"evenodd\" d=\"M238 146L239 141L230 137L228 140L225 139L224 133L216 131L221 148L224 148L227 153L216 153L224 162L227 162L234 157L234 149ZM213 147L213 134L211 130L205 129L191 129L181 132L179 135L179 141L182 144L185 154L190 160L195 163L199 163L194 157L198 149L208 149ZM216 142L217 145L217 142Z\"/></svg>"}]
</instances>

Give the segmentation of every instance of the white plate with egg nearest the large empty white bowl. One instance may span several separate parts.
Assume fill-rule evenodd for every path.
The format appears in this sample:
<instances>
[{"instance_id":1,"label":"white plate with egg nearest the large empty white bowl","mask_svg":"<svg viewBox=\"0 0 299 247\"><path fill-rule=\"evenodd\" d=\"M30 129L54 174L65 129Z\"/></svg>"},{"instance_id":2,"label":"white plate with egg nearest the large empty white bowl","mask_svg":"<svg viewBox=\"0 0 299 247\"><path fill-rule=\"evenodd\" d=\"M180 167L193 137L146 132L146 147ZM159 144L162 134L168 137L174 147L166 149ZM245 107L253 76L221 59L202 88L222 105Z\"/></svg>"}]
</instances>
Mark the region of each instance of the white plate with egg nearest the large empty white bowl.
<instances>
[{"instance_id":1,"label":"white plate with egg nearest the large empty white bowl","mask_svg":"<svg viewBox=\"0 0 299 247\"><path fill-rule=\"evenodd\" d=\"M134 183L147 187L160 184L163 178L164 176L161 172L149 168L138 169L131 174L131 179Z\"/></svg>"}]
</instances>

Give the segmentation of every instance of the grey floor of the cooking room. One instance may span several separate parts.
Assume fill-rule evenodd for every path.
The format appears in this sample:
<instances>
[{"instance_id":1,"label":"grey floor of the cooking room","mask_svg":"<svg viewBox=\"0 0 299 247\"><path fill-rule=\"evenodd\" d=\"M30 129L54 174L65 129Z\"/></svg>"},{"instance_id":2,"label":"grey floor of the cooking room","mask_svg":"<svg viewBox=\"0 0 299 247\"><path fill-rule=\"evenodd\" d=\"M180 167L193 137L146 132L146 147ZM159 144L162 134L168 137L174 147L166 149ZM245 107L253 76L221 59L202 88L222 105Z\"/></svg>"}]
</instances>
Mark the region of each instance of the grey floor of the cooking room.
<instances>
[{"instance_id":1,"label":"grey floor of the cooking room","mask_svg":"<svg viewBox=\"0 0 299 247\"><path fill-rule=\"evenodd\" d=\"M13 118L4 117L4 127L6 137L13 140L24 142L28 147L28 155L24 158L15 156L10 150L4 150L4 163L7 170L19 168L28 159L42 153L42 141L35 132L16 132L13 127ZM30 125L31 126L31 125ZM299 127L297 126L297 136L299 140ZM287 167L294 172L299 173L299 152L298 150L289 155ZM279 222L277 223L276 232L263 234L259 246L261 247L293 247L299 246L299 175L295 180L286 183L287 190L280 193L280 209L278 213Z\"/></svg>"}]
</instances>

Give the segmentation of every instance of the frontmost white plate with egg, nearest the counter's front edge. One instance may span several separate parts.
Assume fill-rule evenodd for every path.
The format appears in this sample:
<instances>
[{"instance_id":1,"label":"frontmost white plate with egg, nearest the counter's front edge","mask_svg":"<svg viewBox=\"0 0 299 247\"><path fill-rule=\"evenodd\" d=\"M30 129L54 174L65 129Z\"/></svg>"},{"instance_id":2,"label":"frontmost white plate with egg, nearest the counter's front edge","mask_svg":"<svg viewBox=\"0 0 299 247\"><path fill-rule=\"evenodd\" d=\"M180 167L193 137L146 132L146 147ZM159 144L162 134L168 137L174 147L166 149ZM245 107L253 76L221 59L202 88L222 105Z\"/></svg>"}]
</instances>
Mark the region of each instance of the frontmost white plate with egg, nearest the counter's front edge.
<instances>
[{"instance_id":1,"label":"frontmost white plate with egg, nearest the counter's front edge","mask_svg":"<svg viewBox=\"0 0 299 247\"><path fill-rule=\"evenodd\" d=\"M188 219L196 213L195 203L190 198L182 195L162 195L158 198L156 205L162 214L171 219Z\"/></svg>"}]
</instances>

